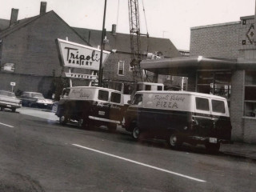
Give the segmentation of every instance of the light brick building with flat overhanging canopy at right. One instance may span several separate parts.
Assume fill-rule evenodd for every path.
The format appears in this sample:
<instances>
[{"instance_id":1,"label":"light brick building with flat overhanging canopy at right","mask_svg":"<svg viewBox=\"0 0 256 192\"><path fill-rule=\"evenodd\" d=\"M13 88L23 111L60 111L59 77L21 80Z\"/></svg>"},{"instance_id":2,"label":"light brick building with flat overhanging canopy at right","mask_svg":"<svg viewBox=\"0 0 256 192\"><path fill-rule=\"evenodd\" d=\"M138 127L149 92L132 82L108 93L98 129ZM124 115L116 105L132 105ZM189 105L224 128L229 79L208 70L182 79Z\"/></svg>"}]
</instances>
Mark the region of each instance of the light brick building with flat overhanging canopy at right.
<instances>
[{"instance_id":1,"label":"light brick building with flat overhanging canopy at right","mask_svg":"<svg viewBox=\"0 0 256 192\"><path fill-rule=\"evenodd\" d=\"M256 46L254 16L191 28L190 57L142 62L160 74L188 77L188 90L226 97L234 141L256 143Z\"/></svg>"}]
</instances>

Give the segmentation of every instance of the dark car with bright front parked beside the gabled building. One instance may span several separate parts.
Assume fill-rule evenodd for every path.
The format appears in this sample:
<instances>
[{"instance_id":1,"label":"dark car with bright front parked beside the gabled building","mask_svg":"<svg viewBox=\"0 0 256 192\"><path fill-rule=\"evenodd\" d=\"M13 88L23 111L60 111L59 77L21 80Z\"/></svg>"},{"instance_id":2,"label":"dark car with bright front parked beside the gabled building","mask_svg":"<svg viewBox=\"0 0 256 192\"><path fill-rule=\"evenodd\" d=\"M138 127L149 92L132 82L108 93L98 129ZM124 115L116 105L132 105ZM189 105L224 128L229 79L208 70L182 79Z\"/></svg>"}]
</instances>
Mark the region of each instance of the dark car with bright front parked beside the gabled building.
<instances>
[{"instance_id":1,"label":"dark car with bright front parked beside the gabled building","mask_svg":"<svg viewBox=\"0 0 256 192\"><path fill-rule=\"evenodd\" d=\"M51 108L54 104L53 100L44 98L41 93L36 92L23 92L20 99L22 106Z\"/></svg>"}]
</instances>

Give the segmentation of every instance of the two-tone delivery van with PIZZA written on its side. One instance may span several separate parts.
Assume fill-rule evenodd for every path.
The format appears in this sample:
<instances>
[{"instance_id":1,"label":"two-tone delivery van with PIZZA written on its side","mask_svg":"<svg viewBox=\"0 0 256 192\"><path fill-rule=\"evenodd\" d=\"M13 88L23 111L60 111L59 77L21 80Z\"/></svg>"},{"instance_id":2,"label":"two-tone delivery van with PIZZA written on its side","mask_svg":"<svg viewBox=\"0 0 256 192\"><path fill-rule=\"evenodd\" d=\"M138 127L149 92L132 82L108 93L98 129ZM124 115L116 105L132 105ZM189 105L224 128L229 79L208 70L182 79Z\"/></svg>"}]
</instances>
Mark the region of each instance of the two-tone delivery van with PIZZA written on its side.
<instances>
[{"instance_id":1,"label":"two-tone delivery van with PIZZA written on its side","mask_svg":"<svg viewBox=\"0 0 256 192\"><path fill-rule=\"evenodd\" d=\"M231 143L226 98L186 91L138 91L126 110L124 128L139 138L166 139L171 148L183 142L205 144L217 152Z\"/></svg>"}]
</instances>

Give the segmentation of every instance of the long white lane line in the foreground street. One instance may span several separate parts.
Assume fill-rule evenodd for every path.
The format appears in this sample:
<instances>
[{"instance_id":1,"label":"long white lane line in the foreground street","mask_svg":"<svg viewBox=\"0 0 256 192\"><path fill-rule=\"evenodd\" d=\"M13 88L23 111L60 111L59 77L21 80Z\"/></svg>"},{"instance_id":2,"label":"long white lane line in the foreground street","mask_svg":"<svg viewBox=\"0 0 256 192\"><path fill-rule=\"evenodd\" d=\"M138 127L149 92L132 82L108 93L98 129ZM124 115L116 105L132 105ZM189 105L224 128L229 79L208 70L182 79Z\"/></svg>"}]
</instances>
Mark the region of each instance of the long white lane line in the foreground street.
<instances>
[{"instance_id":1,"label":"long white lane line in the foreground street","mask_svg":"<svg viewBox=\"0 0 256 192\"><path fill-rule=\"evenodd\" d=\"M162 168L158 168L157 166L150 166L150 165L147 165L147 164L142 163L142 162L136 162L136 161L131 160L131 159L129 159L129 158L122 158L122 157L117 156L117 155L114 155L114 154L108 154L108 153L103 152L103 151L101 151L101 150L94 150L94 149L91 149L91 148L86 147L86 146L79 146L79 145L77 145L77 144L72 144L72 145L73 145L73 146L78 146L78 147L80 147L80 148L82 148L82 149L85 149L85 150L92 150L92 151L97 152L97 153L99 153L99 154L106 154L106 155L108 155L108 156L110 156L110 157L113 157L113 158L119 158L119 159L122 159L122 160L124 160L124 161L126 161L126 162L133 162L133 163L138 164L138 165L141 165L141 166L147 166L147 167L150 167L150 168L152 168L152 169L154 169L154 170L161 170L161 171L163 171L163 172L166 172L166 173L169 173L169 174L174 174L174 175L180 176L180 177L182 177L182 178L189 178L189 179L194 180L194 181L197 181L197 182L206 182L206 181L204 181L204 180L202 180L202 179L192 178L192 177L187 176L187 175L185 175L185 174L178 174L178 173L175 173L175 172L170 171L170 170L164 170L164 169L162 169Z\"/></svg>"}]
</instances>

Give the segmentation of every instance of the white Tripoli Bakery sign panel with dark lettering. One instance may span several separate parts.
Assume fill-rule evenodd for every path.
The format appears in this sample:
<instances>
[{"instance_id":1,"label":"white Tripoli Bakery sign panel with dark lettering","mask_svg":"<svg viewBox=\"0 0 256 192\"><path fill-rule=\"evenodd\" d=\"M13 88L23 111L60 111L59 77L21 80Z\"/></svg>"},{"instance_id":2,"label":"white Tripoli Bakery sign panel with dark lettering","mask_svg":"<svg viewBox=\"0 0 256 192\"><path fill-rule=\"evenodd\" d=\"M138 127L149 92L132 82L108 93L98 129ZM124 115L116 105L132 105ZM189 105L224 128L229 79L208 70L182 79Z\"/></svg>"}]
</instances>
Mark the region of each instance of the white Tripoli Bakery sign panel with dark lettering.
<instances>
[{"instance_id":1,"label":"white Tripoli Bakery sign panel with dark lettering","mask_svg":"<svg viewBox=\"0 0 256 192\"><path fill-rule=\"evenodd\" d=\"M62 66L99 70L101 50L59 38L56 43ZM109 51L103 50L102 63L106 62L109 54Z\"/></svg>"}]
</instances>

